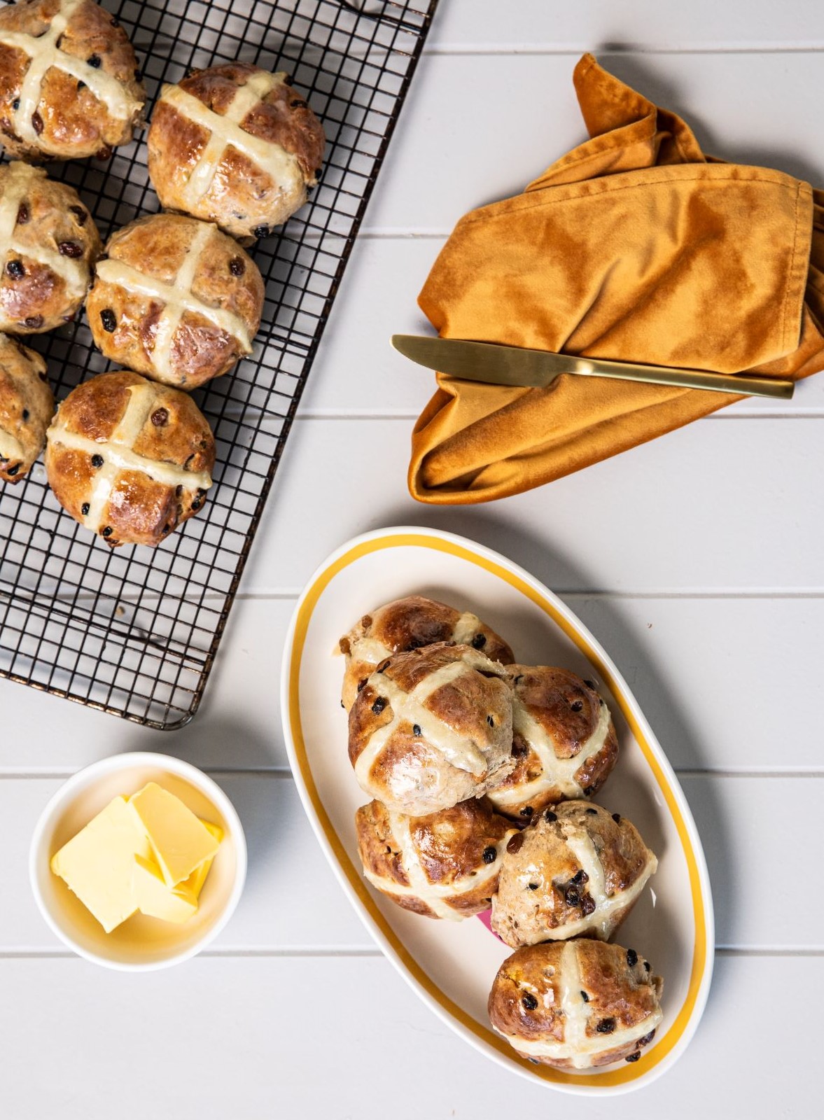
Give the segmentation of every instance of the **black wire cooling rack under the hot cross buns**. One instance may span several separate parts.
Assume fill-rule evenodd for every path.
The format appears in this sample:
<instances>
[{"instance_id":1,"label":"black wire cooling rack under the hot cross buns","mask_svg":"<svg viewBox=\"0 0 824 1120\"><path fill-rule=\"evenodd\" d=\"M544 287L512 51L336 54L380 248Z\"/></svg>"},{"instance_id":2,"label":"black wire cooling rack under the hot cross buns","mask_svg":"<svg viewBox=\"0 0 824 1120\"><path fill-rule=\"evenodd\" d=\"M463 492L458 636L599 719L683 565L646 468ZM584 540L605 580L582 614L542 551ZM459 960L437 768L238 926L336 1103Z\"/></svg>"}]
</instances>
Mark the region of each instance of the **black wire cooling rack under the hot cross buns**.
<instances>
[{"instance_id":1,"label":"black wire cooling rack under the hot cross buns","mask_svg":"<svg viewBox=\"0 0 824 1120\"><path fill-rule=\"evenodd\" d=\"M147 112L163 82L241 58L289 71L328 139L310 203L252 251L266 282L252 355L193 394L217 445L204 511L157 549L112 551L60 510L41 463L0 491L0 676L170 729L203 696L437 0L104 2L135 46ZM78 190L104 240L159 208L143 140L49 174ZM26 342L58 400L111 368L84 321Z\"/></svg>"}]
</instances>

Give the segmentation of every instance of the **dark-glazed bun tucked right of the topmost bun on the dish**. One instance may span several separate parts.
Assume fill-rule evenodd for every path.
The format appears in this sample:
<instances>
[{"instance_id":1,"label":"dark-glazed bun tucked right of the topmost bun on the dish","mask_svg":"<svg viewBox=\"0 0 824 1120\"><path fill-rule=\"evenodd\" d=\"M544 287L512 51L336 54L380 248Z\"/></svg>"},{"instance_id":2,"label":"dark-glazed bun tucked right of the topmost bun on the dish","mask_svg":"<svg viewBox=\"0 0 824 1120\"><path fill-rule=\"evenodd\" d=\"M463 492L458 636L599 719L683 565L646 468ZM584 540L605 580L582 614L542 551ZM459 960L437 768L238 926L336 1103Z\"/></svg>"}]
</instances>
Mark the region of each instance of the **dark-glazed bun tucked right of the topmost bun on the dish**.
<instances>
[{"instance_id":1,"label":"dark-glazed bun tucked right of the topmost bun on the dish","mask_svg":"<svg viewBox=\"0 0 824 1120\"><path fill-rule=\"evenodd\" d=\"M603 700L565 669L511 665L514 769L491 800L499 813L528 821L564 797L600 790L618 758Z\"/></svg>"}]
</instances>

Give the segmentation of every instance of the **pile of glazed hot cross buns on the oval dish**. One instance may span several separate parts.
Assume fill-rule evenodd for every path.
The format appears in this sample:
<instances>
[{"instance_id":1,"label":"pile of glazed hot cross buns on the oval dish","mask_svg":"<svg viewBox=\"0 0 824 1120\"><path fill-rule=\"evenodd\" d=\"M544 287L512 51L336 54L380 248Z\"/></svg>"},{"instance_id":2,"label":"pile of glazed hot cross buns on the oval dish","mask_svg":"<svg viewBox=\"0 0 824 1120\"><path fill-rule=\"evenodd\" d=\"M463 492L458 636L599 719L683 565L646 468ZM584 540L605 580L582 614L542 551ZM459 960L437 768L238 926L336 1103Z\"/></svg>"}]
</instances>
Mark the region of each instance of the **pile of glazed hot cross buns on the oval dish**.
<instances>
[{"instance_id":1,"label":"pile of glazed hot cross buns on the oval dish","mask_svg":"<svg viewBox=\"0 0 824 1120\"><path fill-rule=\"evenodd\" d=\"M655 872L637 829L589 799L618 758L590 680L515 663L476 615L420 595L340 638L367 880L405 909L491 907L515 952L489 995L494 1028L532 1062L635 1062L661 1023L662 980L609 943Z\"/></svg>"}]
</instances>

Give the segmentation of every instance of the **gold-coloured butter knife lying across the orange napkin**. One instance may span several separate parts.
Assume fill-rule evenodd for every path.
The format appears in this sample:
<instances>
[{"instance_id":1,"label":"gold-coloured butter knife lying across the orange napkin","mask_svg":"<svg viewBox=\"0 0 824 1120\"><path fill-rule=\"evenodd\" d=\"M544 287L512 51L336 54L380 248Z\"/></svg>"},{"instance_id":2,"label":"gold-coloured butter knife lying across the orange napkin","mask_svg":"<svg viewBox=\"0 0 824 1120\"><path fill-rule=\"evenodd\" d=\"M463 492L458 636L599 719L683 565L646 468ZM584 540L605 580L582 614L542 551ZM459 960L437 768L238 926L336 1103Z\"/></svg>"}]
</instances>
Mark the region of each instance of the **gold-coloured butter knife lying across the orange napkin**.
<instances>
[{"instance_id":1,"label":"gold-coloured butter knife lying across the orange napkin","mask_svg":"<svg viewBox=\"0 0 824 1120\"><path fill-rule=\"evenodd\" d=\"M579 357L574 354L552 354L549 351L504 346L499 343L476 343L465 338L432 338L427 335L393 335L392 345L404 357L429 370L438 370L465 381L483 381L493 385L545 388L562 373L579 377L612 377L618 381L642 381L655 385L683 389L709 389L719 393L746 396L771 396L789 400L795 382L783 377L758 377L740 373L711 373L708 370L676 370L665 365L640 365L635 362L611 362L603 358Z\"/></svg>"}]
</instances>

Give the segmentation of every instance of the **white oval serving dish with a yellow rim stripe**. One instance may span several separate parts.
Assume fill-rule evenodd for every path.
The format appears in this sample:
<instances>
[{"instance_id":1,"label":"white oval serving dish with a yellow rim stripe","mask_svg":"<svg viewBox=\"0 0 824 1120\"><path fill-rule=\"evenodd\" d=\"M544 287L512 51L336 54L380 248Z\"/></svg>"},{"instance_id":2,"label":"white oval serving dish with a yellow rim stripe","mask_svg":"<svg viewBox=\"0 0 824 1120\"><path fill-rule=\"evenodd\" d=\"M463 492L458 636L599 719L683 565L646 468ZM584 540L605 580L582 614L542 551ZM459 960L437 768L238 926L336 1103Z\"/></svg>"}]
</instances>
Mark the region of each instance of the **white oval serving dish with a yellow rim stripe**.
<instances>
[{"instance_id":1,"label":"white oval serving dish with a yellow rim stripe","mask_svg":"<svg viewBox=\"0 0 824 1120\"><path fill-rule=\"evenodd\" d=\"M410 594L472 610L526 664L562 665L596 681L614 715L620 756L597 800L639 829L658 856L617 941L664 978L664 1020L638 1062L597 1072L534 1065L491 1029L487 998L509 950L477 918L442 922L401 909L365 881L354 815L368 799L347 755L338 638L364 614ZM421 999L457 1034L533 1082L611 1095L640 1088L683 1053L706 1002L713 915L701 841L672 767L626 682L589 631L536 579L490 549L431 529L357 536L312 576L296 607L281 681L283 730L309 820L353 906Z\"/></svg>"}]
</instances>

